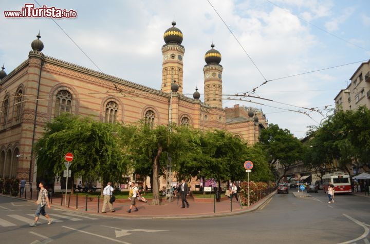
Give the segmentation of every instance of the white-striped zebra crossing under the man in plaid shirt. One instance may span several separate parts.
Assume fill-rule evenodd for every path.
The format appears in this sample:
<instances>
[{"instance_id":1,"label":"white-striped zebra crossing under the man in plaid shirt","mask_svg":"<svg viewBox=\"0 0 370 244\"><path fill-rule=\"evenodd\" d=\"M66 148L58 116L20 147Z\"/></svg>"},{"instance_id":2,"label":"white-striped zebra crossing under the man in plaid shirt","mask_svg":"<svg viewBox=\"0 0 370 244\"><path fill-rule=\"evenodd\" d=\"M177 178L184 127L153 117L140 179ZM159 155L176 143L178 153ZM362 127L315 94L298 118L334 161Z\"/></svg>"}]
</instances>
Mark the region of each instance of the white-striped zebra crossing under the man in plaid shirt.
<instances>
[{"instance_id":1,"label":"white-striped zebra crossing under the man in plaid shirt","mask_svg":"<svg viewBox=\"0 0 370 244\"><path fill-rule=\"evenodd\" d=\"M96 220L98 218L74 214L74 213L63 213L55 214L49 213L52 218L53 223L64 222L64 221L84 221L84 220ZM0 218L0 226L11 227L11 226L24 226L29 225L34 221L34 213L30 214L8 214ZM47 218L40 215L38 225L46 224L48 222Z\"/></svg>"}]
</instances>

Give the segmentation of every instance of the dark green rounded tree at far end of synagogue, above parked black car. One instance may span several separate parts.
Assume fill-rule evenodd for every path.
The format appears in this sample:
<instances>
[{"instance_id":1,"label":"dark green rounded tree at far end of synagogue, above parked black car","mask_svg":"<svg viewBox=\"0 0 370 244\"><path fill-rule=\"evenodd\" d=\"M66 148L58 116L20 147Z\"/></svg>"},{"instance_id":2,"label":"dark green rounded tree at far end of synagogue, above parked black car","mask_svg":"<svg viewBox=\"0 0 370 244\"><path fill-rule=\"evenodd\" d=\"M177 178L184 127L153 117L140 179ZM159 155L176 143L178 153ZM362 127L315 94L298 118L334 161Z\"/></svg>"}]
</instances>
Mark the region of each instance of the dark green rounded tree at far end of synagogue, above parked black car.
<instances>
[{"instance_id":1,"label":"dark green rounded tree at far end of synagogue, above parked black car","mask_svg":"<svg viewBox=\"0 0 370 244\"><path fill-rule=\"evenodd\" d=\"M304 147L301 141L289 130L283 130L278 125L270 124L266 130L263 130L259 144L265 148L271 170L274 170L276 164L281 165L283 173L279 175L278 182L285 176L292 164L304 157Z\"/></svg>"}]
</instances>

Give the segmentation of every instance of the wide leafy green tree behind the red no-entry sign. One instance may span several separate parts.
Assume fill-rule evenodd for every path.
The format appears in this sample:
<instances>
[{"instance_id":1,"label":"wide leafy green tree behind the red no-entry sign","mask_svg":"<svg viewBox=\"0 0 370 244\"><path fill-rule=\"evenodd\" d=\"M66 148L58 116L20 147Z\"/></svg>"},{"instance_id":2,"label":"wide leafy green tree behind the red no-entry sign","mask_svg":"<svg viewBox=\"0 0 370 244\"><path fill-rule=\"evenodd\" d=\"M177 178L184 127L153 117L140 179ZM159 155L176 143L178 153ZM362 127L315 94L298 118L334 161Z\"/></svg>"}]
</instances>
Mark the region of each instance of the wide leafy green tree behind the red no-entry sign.
<instances>
[{"instance_id":1,"label":"wide leafy green tree behind the red no-entry sign","mask_svg":"<svg viewBox=\"0 0 370 244\"><path fill-rule=\"evenodd\" d=\"M118 181L126 172L128 158L117 132L118 124L100 123L89 117L69 114L55 118L45 126L44 135L35 144L39 171L61 175L64 155L73 153L70 169L75 176Z\"/></svg>"}]
</instances>

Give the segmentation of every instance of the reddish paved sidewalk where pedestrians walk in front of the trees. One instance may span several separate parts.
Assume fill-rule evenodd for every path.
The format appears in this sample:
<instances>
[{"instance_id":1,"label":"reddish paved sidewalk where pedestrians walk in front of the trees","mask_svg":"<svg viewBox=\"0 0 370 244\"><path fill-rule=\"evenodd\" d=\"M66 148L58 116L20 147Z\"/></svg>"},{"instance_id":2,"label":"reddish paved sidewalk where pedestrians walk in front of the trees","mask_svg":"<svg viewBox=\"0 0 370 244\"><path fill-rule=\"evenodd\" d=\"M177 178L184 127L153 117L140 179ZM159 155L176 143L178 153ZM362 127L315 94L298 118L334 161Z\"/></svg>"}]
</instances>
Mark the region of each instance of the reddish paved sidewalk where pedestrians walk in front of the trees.
<instances>
[{"instance_id":1,"label":"reddish paved sidewalk where pedestrians walk in front of the trees","mask_svg":"<svg viewBox=\"0 0 370 244\"><path fill-rule=\"evenodd\" d=\"M262 207L266 201L271 198L275 192L272 192L270 195L264 197L260 201L256 202L255 204L247 207L241 206L239 202L236 202L233 199L232 202L232 211L230 211L231 204L229 200L216 202L216 213L214 213L214 204L213 202L195 202L191 197L187 197L189 201L189 208L181 208L181 199L177 204L177 197L174 198L172 202L161 202L161 205L155 206L151 205L151 200L148 203L144 202L137 202L137 207L139 211L127 213L126 211L130 208L129 202L114 202L113 207L115 212L111 213L109 208L105 211L106 213L101 213L101 209L103 207L103 200L100 199L99 204L99 213L98 213L98 201L87 201L87 211L86 209L86 198L79 197L78 198L78 209L76 209L76 198L71 197L69 202L69 208L64 207L65 199L59 197L53 197L52 199L52 208L58 208L62 210L67 210L71 212L77 213L88 213L93 215L99 216L106 216L106 217L119 217L119 218L139 218L139 219L181 219L181 218L205 218L205 217L218 217L218 216L230 216L236 214L243 214L251 211L255 211L258 208ZM7 196L7 195L4 195ZM19 197L14 197L18 198ZM24 198L22 198L24 199ZM27 201L34 201L30 199L24 199ZM63 203L63 206L61 206ZM68 198L67 198L67 205L68 205Z\"/></svg>"}]
</instances>

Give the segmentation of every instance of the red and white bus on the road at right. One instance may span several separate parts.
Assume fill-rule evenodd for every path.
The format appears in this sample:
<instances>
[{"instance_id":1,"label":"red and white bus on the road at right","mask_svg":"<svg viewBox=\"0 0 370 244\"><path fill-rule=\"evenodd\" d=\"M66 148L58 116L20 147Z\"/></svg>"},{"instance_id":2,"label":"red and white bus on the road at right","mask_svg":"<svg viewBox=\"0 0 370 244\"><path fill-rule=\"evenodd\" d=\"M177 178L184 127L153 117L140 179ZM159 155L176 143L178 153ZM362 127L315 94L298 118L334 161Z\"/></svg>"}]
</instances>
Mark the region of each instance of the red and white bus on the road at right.
<instances>
[{"instance_id":1,"label":"red and white bus on the road at right","mask_svg":"<svg viewBox=\"0 0 370 244\"><path fill-rule=\"evenodd\" d=\"M327 192L328 185L334 185L335 193L352 193L352 188L350 184L350 178L347 173L335 172L323 175L323 188L324 192Z\"/></svg>"}]
</instances>

